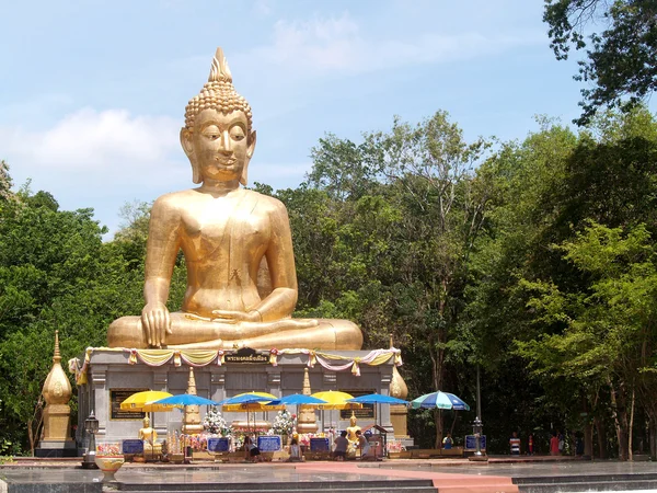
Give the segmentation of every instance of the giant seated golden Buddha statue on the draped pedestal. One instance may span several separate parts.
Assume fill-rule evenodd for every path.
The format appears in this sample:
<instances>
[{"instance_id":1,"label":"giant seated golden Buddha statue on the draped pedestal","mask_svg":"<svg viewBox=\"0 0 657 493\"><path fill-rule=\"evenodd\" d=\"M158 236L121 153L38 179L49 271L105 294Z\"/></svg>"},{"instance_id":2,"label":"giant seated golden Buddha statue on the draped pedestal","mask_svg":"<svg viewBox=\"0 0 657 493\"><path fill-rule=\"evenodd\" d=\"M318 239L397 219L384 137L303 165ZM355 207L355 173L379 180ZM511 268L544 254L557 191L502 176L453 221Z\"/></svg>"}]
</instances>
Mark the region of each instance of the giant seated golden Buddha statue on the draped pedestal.
<instances>
[{"instance_id":1,"label":"giant seated golden Buddha statue on the draped pedestal","mask_svg":"<svg viewBox=\"0 0 657 493\"><path fill-rule=\"evenodd\" d=\"M255 149L251 107L221 48L185 111L181 144L197 188L159 197L149 223L141 317L107 331L110 347L360 349L347 320L292 319L297 274L287 210L245 190ZM178 250L187 266L182 311L166 309Z\"/></svg>"}]
</instances>

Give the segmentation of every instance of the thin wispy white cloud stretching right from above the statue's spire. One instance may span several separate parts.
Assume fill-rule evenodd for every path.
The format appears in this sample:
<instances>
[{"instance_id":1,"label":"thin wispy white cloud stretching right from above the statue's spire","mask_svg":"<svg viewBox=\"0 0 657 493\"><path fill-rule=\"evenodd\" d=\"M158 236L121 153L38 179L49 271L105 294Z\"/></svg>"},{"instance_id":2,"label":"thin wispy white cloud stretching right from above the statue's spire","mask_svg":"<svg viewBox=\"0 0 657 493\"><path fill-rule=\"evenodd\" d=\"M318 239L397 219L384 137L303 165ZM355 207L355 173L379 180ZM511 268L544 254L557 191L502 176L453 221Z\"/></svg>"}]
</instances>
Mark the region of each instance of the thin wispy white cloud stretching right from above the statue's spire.
<instances>
[{"instance_id":1,"label":"thin wispy white cloud stretching right from above the statue's spire","mask_svg":"<svg viewBox=\"0 0 657 493\"><path fill-rule=\"evenodd\" d=\"M273 43L246 55L252 64L266 62L295 74L364 73L408 65L466 60L523 45L544 43L544 33L515 34L463 31L415 33L378 39L365 35L348 13L339 18L278 21ZM254 58L258 61L254 61Z\"/></svg>"}]
</instances>

